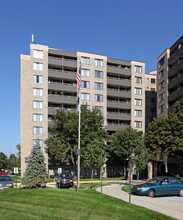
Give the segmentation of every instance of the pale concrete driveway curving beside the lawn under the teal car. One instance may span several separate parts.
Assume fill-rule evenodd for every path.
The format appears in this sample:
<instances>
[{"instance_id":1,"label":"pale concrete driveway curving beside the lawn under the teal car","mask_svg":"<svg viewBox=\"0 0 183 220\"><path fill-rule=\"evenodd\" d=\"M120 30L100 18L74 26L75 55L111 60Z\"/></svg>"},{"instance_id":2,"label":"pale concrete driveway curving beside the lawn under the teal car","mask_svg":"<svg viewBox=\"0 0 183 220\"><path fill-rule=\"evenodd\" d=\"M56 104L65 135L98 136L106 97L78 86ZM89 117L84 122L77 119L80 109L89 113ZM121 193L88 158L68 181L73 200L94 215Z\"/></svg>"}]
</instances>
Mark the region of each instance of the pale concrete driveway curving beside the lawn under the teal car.
<instances>
[{"instance_id":1,"label":"pale concrete driveway curving beside the lawn under the teal car","mask_svg":"<svg viewBox=\"0 0 183 220\"><path fill-rule=\"evenodd\" d=\"M121 190L122 186L123 184L103 186L102 193L129 202L129 194ZM98 188L97 191L101 192L101 188ZM171 196L149 198L147 196L131 195L131 203L176 219L183 219L183 197Z\"/></svg>"}]
</instances>

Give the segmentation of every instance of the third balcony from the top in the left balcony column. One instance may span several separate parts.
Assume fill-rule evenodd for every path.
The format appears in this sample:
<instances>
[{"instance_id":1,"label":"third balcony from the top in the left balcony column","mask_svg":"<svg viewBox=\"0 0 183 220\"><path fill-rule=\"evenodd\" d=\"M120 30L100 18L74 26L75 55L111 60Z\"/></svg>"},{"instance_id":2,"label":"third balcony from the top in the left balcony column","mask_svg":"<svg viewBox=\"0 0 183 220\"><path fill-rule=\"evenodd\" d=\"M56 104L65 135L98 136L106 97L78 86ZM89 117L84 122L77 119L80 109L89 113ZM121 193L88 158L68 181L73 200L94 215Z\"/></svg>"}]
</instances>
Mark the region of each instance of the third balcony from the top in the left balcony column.
<instances>
[{"instance_id":1,"label":"third balcony from the top in the left balcony column","mask_svg":"<svg viewBox=\"0 0 183 220\"><path fill-rule=\"evenodd\" d=\"M65 92L77 92L77 85L74 84L64 84L57 82L50 82L48 84L48 89L57 90L57 91L65 91Z\"/></svg>"}]
</instances>

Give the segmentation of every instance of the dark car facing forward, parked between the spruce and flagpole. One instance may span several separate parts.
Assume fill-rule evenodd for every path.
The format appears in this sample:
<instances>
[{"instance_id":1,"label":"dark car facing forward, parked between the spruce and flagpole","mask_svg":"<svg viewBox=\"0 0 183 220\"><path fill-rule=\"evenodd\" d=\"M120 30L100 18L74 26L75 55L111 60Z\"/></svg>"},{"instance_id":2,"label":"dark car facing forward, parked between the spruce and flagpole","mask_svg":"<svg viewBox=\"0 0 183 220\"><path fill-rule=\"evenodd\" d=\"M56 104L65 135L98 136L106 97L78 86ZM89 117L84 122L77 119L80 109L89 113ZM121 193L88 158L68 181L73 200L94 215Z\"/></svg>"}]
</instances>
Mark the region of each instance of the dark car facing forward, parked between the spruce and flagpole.
<instances>
[{"instance_id":1,"label":"dark car facing forward, parked between the spruce and flagpole","mask_svg":"<svg viewBox=\"0 0 183 220\"><path fill-rule=\"evenodd\" d=\"M56 179L57 188L71 187L74 185L73 177L69 173L61 173Z\"/></svg>"}]
</instances>

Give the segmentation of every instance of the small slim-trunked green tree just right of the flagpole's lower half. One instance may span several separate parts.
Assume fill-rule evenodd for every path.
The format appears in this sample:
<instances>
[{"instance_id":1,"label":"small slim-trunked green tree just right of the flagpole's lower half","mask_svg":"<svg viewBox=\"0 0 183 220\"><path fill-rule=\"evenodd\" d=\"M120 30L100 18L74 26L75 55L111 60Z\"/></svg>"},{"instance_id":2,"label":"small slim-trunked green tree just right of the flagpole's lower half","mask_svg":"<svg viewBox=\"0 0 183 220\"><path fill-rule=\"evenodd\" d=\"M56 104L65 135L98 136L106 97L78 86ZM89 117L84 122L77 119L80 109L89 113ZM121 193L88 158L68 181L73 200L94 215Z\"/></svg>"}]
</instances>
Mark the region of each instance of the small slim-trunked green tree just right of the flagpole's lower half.
<instances>
[{"instance_id":1,"label":"small slim-trunked green tree just right of the flagpole's lower half","mask_svg":"<svg viewBox=\"0 0 183 220\"><path fill-rule=\"evenodd\" d=\"M93 181L93 168L100 168L106 159L105 142L103 140L94 139L88 143L84 152L83 160L86 167L92 169L91 179Z\"/></svg>"}]
</instances>

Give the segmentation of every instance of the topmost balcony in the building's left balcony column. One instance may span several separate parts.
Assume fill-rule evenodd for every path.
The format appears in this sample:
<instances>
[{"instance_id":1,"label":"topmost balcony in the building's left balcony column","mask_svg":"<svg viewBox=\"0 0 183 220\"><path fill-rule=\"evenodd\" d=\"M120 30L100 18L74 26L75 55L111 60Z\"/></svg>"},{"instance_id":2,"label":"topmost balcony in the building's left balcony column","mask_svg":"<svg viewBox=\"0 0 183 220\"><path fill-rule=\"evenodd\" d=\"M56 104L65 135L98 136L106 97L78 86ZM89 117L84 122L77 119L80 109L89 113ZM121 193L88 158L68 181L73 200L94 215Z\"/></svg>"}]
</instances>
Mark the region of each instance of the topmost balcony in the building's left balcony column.
<instances>
[{"instance_id":1,"label":"topmost balcony in the building's left balcony column","mask_svg":"<svg viewBox=\"0 0 183 220\"><path fill-rule=\"evenodd\" d=\"M48 64L58 67L65 66L65 67L77 68L77 60L65 59L59 57L48 57Z\"/></svg>"}]
</instances>

